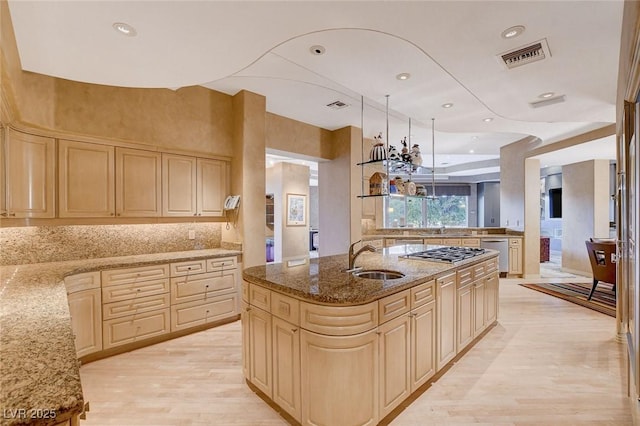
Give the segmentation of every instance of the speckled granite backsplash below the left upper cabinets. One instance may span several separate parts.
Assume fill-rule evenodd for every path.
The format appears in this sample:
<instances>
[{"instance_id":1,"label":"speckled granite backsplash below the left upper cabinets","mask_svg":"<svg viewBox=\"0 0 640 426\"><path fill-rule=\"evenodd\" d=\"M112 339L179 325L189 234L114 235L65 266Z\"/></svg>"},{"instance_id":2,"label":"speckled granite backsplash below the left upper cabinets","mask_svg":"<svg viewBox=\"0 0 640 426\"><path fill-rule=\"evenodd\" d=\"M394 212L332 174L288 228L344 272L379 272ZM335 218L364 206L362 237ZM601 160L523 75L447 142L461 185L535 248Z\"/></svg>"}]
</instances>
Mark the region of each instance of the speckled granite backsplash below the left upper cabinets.
<instances>
[{"instance_id":1,"label":"speckled granite backsplash below the left upper cabinets","mask_svg":"<svg viewBox=\"0 0 640 426\"><path fill-rule=\"evenodd\" d=\"M0 265L210 249L221 239L221 225L204 222L0 228Z\"/></svg>"}]
</instances>

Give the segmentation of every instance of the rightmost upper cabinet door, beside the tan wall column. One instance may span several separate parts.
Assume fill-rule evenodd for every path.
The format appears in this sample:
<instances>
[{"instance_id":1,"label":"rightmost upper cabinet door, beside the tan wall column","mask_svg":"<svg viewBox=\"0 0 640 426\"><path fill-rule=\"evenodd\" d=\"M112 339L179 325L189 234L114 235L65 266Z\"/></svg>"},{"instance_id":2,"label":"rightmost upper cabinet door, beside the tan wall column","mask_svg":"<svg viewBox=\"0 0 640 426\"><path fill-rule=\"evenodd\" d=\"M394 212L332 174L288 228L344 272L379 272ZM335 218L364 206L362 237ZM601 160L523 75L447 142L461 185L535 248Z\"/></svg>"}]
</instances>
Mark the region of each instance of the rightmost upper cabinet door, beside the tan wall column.
<instances>
[{"instance_id":1,"label":"rightmost upper cabinet door, beside the tan wall column","mask_svg":"<svg viewBox=\"0 0 640 426\"><path fill-rule=\"evenodd\" d=\"M197 166L198 216L222 216L227 196L227 163L198 158Z\"/></svg>"}]
</instances>

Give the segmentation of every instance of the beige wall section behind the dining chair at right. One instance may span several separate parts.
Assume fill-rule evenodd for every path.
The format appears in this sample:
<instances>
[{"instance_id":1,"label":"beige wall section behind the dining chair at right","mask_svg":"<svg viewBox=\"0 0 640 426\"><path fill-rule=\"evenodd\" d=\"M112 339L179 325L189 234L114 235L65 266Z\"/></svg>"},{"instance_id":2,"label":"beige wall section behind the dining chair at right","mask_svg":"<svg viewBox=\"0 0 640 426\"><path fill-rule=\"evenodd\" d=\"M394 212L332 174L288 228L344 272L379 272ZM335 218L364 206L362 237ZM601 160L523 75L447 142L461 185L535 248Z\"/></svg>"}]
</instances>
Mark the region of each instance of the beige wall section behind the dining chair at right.
<instances>
[{"instance_id":1,"label":"beige wall section behind the dining chair at right","mask_svg":"<svg viewBox=\"0 0 640 426\"><path fill-rule=\"evenodd\" d=\"M562 167L562 267L591 274L585 240L609 238L609 161Z\"/></svg>"}]
</instances>

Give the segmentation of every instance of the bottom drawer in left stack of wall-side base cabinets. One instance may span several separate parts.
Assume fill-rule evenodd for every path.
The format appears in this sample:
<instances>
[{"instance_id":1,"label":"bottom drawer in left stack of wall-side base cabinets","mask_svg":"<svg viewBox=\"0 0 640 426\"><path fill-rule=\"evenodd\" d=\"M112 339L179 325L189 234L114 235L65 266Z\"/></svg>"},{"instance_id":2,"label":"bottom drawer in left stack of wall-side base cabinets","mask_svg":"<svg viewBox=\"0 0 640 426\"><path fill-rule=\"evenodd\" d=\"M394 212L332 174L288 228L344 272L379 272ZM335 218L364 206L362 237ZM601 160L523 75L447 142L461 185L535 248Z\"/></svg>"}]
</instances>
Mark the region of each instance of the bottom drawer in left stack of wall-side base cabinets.
<instances>
[{"instance_id":1,"label":"bottom drawer in left stack of wall-side base cabinets","mask_svg":"<svg viewBox=\"0 0 640 426\"><path fill-rule=\"evenodd\" d=\"M103 322L104 349L138 342L169 332L169 308Z\"/></svg>"}]
</instances>

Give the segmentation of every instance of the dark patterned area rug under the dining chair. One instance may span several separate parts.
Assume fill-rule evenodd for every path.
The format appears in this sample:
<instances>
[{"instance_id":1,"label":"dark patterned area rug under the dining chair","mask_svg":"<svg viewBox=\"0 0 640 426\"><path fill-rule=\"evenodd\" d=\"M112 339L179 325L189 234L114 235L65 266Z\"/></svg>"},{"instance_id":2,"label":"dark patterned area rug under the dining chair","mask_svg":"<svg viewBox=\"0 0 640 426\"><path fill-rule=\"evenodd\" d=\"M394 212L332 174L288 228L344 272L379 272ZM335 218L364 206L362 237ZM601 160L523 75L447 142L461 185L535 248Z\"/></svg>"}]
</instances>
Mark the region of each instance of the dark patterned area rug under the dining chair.
<instances>
[{"instance_id":1,"label":"dark patterned area rug under the dining chair","mask_svg":"<svg viewBox=\"0 0 640 426\"><path fill-rule=\"evenodd\" d=\"M598 284L591 300L587 300L591 291L591 283L545 283L520 284L542 293L550 294L571 303L584 306L611 317L616 316L616 296L610 290L610 284Z\"/></svg>"}]
</instances>

